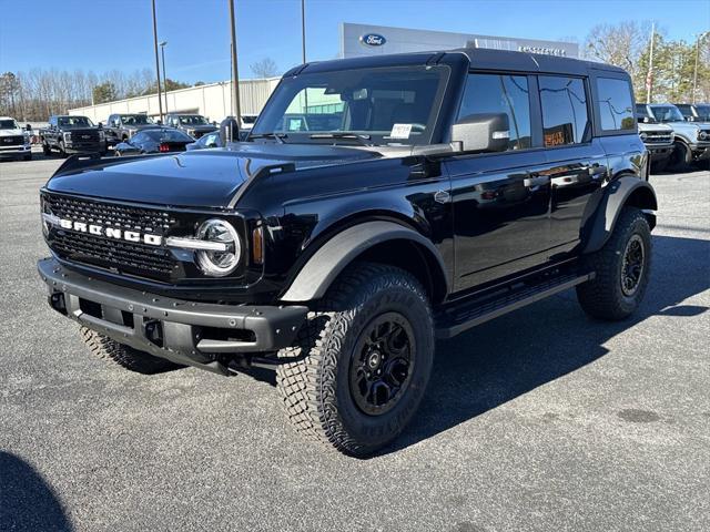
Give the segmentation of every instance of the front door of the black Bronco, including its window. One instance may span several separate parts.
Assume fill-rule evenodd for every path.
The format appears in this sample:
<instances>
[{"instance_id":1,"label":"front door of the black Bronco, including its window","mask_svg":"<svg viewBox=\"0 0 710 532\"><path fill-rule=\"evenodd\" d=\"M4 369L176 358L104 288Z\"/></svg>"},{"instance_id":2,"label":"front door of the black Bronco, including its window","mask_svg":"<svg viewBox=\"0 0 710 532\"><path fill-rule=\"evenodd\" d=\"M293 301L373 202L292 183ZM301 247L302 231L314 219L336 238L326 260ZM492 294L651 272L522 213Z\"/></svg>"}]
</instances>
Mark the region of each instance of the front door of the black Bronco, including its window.
<instances>
[{"instance_id":1,"label":"front door of the black Bronco, including its window","mask_svg":"<svg viewBox=\"0 0 710 532\"><path fill-rule=\"evenodd\" d=\"M465 290L545 262L549 247L550 186L539 149L539 115L531 113L534 76L468 74L458 119L508 115L505 152L455 155L452 180L455 286Z\"/></svg>"}]
</instances>

